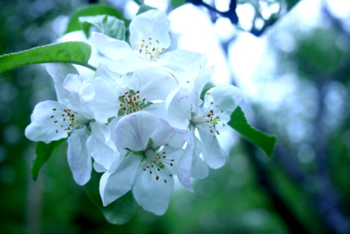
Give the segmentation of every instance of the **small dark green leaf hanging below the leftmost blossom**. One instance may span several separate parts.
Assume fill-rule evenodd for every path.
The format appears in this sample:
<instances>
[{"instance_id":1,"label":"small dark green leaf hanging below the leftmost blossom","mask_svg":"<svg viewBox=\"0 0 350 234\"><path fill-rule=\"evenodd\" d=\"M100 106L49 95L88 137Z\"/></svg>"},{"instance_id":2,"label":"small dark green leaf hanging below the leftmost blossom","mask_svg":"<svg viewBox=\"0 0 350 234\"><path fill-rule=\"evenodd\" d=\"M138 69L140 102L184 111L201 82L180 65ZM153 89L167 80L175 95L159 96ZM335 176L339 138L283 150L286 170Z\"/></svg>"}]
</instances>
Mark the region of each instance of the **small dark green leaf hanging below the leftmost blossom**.
<instances>
[{"instance_id":1,"label":"small dark green leaf hanging below the leftmost blossom","mask_svg":"<svg viewBox=\"0 0 350 234\"><path fill-rule=\"evenodd\" d=\"M44 163L52 155L52 151L61 144L64 139L59 139L58 141L50 142L45 144L45 142L36 142L35 145L35 159L33 160L33 165L31 166L31 176L34 180L38 179L38 173Z\"/></svg>"}]
</instances>

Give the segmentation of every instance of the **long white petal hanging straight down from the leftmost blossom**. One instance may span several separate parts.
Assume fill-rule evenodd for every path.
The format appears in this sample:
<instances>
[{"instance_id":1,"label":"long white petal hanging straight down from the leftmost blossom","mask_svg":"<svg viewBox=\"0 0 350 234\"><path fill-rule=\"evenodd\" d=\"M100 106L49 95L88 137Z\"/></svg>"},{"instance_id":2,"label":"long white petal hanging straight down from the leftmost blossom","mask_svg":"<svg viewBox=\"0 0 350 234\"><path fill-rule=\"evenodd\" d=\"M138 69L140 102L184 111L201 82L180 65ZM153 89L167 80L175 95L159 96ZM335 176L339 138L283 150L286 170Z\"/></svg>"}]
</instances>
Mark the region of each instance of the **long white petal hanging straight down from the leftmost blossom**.
<instances>
[{"instance_id":1,"label":"long white petal hanging straight down from the leftmost blossom","mask_svg":"<svg viewBox=\"0 0 350 234\"><path fill-rule=\"evenodd\" d=\"M68 138L68 164L76 184L84 185L90 180L92 162L86 147L87 128L74 130Z\"/></svg>"}]
</instances>

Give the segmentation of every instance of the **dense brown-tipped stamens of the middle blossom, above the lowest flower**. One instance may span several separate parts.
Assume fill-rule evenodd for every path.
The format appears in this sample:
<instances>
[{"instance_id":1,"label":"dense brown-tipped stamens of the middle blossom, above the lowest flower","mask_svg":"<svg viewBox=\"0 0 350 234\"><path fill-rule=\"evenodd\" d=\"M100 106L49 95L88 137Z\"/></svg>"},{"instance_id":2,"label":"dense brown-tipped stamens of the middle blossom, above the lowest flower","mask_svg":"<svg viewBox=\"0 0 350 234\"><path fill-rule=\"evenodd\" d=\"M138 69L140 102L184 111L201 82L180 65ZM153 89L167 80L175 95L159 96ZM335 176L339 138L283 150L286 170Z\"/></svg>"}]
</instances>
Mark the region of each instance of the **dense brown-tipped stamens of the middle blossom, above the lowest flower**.
<instances>
[{"instance_id":1,"label":"dense brown-tipped stamens of the middle blossom, above the lowest flower","mask_svg":"<svg viewBox=\"0 0 350 234\"><path fill-rule=\"evenodd\" d=\"M140 91L133 92L132 90L130 90L130 92L125 92L123 96L120 96L120 107L123 108L123 116L125 113L128 115L130 113L134 113L142 109L142 106L140 106L140 104L142 102L145 102L146 98L140 100L139 93Z\"/></svg>"}]
</instances>

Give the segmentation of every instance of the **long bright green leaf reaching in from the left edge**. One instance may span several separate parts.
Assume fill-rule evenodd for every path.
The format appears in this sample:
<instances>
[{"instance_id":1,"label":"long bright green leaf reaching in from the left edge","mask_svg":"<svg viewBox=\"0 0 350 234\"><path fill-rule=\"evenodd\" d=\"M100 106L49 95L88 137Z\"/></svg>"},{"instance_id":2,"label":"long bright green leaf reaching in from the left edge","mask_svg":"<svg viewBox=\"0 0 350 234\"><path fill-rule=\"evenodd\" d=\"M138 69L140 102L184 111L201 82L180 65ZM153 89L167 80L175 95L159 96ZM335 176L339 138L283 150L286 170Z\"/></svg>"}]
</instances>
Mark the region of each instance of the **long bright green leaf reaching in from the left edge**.
<instances>
[{"instance_id":1,"label":"long bright green leaf reaching in from the left edge","mask_svg":"<svg viewBox=\"0 0 350 234\"><path fill-rule=\"evenodd\" d=\"M47 62L69 62L96 70L87 64L90 55L91 47L80 41L38 46L18 53L1 55L0 73L23 65Z\"/></svg>"}]
</instances>

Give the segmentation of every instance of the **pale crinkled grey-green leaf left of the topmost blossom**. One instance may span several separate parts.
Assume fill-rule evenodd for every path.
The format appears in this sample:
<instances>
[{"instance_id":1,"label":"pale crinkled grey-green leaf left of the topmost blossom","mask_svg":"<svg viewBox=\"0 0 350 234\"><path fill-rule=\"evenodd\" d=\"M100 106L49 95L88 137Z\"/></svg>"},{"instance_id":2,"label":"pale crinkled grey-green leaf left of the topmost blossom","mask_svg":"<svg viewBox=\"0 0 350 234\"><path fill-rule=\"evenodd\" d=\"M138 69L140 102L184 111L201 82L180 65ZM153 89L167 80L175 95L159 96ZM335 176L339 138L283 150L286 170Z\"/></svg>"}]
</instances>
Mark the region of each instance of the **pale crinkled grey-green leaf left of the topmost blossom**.
<instances>
[{"instance_id":1,"label":"pale crinkled grey-green leaf left of the topmost blossom","mask_svg":"<svg viewBox=\"0 0 350 234\"><path fill-rule=\"evenodd\" d=\"M101 32L113 39L125 41L125 22L111 15L82 16L78 18L85 36L89 37L90 27L97 28Z\"/></svg>"}]
</instances>

